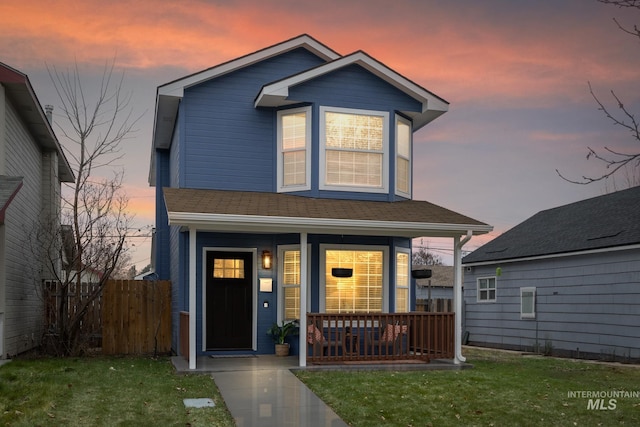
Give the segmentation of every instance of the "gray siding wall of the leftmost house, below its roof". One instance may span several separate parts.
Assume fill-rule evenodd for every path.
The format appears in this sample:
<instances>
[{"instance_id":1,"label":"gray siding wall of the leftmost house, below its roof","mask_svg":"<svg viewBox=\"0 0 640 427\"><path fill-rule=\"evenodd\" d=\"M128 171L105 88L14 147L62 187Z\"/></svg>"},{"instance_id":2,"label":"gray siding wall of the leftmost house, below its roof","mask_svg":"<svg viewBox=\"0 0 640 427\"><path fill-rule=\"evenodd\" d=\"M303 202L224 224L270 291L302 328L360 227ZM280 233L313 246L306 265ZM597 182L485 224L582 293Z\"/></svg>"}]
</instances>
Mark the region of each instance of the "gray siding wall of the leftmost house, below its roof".
<instances>
[{"instance_id":1,"label":"gray siding wall of the leftmost house, below its roof","mask_svg":"<svg viewBox=\"0 0 640 427\"><path fill-rule=\"evenodd\" d=\"M42 154L12 105L6 105L7 175L24 177L5 218L4 355L38 345L42 336L39 256L28 243L42 212Z\"/></svg>"}]
</instances>

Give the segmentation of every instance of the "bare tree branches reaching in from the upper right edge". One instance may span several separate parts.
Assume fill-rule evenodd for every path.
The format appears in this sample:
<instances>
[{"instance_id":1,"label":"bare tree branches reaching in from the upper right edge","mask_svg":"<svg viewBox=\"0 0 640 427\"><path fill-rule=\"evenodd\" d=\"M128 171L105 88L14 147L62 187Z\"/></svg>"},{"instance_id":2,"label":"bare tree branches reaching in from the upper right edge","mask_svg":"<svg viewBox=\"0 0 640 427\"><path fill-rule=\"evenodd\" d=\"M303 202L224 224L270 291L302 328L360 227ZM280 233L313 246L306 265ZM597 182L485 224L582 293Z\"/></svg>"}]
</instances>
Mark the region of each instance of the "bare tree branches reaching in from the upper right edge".
<instances>
[{"instance_id":1,"label":"bare tree branches reaching in from the upper right edge","mask_svg":"<svg viewBox=\"0 0 640 427\"><path fill-rule=\"evenodd\" d=\"M640 10L640 0L598 0L600 3L610 4L619 8L634 8ZM623 32L630 34L640 40L640 29L637 25L633 28L628 28L620 24L620 22L613 18L618 28ZM598 109L604 113L604 115L613 122L616 126L622 126L631 133L631 137L634 142L639 144L635 152L626 153L615 148L603 147L600 150L587 147L587 159L594 158L604 164L606 171L599 176L582 176L580 180L573 180L565 177L556 169L556 173L564 180L572 182L574 184L591 184L592 182L606 180L614 176L618 171L626 171L628 174L628 168L640 169L640 127L635 115L624 105L622 100L612 90L611 96L614 101L614 107L607 107L593 91L591 82L589 82L589 93L596 101ZM614 109L617 107L617 111ZM633 180L630 181L630 184ZM632 185L630 185L632 186Z\"/></svg>"}]
</instances>

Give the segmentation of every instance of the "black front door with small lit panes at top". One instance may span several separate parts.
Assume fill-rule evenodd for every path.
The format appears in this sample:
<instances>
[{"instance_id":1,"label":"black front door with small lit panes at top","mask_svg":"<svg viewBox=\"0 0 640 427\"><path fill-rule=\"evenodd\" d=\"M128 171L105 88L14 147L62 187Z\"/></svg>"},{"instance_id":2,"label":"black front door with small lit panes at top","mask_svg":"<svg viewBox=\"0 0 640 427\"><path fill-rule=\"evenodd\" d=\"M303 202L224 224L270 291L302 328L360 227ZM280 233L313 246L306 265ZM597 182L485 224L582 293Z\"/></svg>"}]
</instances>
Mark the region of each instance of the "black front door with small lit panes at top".
<instances>
[{"instance_id":1,"label":"black front door with small lit panes at top","mask_svg":"<svg viewBox=\"0 0 640 427\"><path fill-rule=\"evenodd\" d=\"M207 350L251 349L252 266L251 252L207 252Z\"/></svg>"}]
</instances>

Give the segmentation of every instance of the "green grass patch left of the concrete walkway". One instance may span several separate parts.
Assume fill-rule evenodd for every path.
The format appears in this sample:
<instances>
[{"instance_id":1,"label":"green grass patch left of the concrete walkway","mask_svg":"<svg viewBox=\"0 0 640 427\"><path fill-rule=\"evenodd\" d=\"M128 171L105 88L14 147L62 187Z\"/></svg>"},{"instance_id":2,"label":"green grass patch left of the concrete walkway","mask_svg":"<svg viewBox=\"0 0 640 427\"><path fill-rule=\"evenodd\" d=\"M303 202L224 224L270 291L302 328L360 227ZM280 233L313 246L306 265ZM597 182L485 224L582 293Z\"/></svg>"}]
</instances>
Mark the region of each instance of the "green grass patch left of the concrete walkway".
<instances>
[{"instance_id":1,"label":"green grass patch left of the concrete walkway","mask_svg":"<svg viewBox=\"0 0 640 427\"><path fill-rule=\"evenodd\" d=\"M208 397L213 408L185 408ZM0 368L0 425L230 426L208 375L176 375L168 358L14 360Z\"/></svg>"}]
</instances>

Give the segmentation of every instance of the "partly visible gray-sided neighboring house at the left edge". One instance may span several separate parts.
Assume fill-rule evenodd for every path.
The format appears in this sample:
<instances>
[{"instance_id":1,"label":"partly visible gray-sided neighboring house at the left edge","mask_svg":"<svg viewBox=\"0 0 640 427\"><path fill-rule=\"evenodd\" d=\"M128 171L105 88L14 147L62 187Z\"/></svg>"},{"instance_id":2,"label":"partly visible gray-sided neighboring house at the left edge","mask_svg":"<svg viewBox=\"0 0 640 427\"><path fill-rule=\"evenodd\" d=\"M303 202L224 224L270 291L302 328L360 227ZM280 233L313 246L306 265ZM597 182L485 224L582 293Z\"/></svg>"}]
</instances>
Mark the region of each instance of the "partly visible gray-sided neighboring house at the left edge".
<instances>
[{"instance_id":1,"label":"partly visible gray-sided neighboring house at the left edge","mask_svg":"<svg viewBox=\"0 0 640 427\"><path fill-rule=\"evenodd\" d=\"M59 223L61 182L73 172L29 79L0 63L0 358L40 343L45 267L28 242Z\"/></svg>"}]
</instances>

